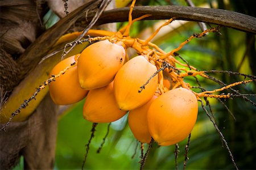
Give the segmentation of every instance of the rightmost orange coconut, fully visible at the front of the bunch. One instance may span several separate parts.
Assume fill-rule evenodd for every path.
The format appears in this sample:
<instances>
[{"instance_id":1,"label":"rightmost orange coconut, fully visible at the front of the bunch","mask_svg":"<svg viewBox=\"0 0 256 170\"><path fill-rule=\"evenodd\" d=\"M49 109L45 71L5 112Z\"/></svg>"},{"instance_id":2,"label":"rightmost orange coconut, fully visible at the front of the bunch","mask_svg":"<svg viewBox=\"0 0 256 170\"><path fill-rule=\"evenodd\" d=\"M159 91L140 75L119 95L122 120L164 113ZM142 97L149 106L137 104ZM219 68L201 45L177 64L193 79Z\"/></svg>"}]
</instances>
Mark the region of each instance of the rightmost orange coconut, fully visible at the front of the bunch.
<instances>
[{"instance_id":1,"label":"rightmost orange coconut, fully visible at the front of the bunch","mask_svg":"<svg viewBox=\"0 0 256 170\"><path fill-rule=\"evenodd\" d=\"M176 88L155 99L148 109L148 129L160 146L174 145L191 133L198 104L195 94Z\"/></svg>"}]
</instances>

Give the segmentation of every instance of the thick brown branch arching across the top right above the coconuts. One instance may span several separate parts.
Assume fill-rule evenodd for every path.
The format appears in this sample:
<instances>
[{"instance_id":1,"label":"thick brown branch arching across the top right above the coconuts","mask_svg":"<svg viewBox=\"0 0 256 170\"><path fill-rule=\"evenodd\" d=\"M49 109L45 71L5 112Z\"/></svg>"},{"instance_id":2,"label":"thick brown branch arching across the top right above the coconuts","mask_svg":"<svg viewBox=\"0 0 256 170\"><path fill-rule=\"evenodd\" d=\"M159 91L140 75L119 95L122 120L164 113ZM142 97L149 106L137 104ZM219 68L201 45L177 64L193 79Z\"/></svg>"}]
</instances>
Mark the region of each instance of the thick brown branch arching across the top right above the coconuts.
<instances>
[{"instance_id":1,"label":"thick brown branch arching across the top right above the coconuts","mask_svg":"<svg viewBox=\"0 0 256 170\"><path fill-rule=\"evenodd\" d=\"M128 13L129 7L105 11L97 24L125 22L127 21ZM212 23L238 29L243 32L256 33L256 18L234 11L191 6L134 7L133 18L138 18L138 16L142 16L144 14L151 14L151 16L146 18L147 20L170 19L172 17L176 17L177 20ZM89 16L88 19L91 17L92 16Z\"/></svg>"}]
</instances>

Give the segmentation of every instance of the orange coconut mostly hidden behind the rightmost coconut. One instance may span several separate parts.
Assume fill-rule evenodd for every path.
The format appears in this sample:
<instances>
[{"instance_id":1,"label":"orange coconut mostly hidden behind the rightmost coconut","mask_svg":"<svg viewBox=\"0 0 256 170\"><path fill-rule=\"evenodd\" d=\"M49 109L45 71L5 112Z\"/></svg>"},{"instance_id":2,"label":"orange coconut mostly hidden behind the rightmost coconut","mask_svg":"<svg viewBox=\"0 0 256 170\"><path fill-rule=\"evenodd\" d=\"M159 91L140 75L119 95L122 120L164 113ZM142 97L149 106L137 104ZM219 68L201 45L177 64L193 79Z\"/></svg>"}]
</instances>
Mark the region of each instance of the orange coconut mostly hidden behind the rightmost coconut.
<instances>
[{"instance_id":1,"label":"orange coconut mostly hidden behind the rightmost coconut","mask_svg":"<svg viewBox=\"0 0 256 170\"><path fill-rule=\"evenodd\" d=\"M128 124L130 129L133 132L134 137L142 143L150 143L151 141L151 134L149 133L147 124L147 111L152 101L155 99L156 96L153 96L148 103L142 105L142 107L131 110L128 114Z\"/></svg>"}]
</instances>

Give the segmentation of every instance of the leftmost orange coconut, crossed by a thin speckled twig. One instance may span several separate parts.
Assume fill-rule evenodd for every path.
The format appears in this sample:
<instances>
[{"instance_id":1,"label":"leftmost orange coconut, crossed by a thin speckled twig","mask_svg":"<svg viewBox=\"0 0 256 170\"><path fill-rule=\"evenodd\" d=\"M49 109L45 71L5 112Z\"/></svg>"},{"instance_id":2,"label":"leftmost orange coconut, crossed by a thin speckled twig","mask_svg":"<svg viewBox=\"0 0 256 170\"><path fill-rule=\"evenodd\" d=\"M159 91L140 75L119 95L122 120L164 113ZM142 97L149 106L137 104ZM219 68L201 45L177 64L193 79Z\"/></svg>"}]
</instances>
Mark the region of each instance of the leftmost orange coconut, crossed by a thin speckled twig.
<instances>
[{"instance_id":1,"label":"leftmost orange coconut, crossed by a thin speckled twig","mask_svg":"<svg viewBox=\"0 0 256 170\"><path fill-rule=\"evenodd\" d=\"M71 63L74 62L75 56L60 61L53 67L49 75L59 74L61 70L71 66ZM84 99L88 91L80 87L77 76L77 66L74 66L49 84L49 93L55 104L67 105Z\"/></svg>"}]
</instances>

